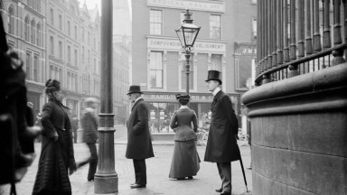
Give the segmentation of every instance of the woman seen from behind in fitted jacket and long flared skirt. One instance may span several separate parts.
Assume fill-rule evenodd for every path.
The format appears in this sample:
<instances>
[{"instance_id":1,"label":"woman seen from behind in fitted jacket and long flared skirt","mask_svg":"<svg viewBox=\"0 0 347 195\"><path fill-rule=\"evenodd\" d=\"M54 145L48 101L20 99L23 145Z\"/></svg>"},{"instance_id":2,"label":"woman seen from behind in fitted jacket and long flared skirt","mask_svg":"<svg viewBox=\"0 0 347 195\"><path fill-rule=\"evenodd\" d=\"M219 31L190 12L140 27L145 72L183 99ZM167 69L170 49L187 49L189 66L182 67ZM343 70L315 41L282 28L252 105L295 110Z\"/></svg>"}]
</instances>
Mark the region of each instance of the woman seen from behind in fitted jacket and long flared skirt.
<instances>
[{"instance_id":1,"label":"woman seen from behind in fitted jacket and long flared skirt","mask_svg":"<svg viewBox=\"0 0 347 195\"><path fill-rule=\"evenodd\" d=\"M169 178L192 179L200 169L200 158L196 150L198 130L195 112L187 107L189 95L176 95L181 107L174 112L170 126L174 129L174 154Z\"/></svg>"}]
</instances>

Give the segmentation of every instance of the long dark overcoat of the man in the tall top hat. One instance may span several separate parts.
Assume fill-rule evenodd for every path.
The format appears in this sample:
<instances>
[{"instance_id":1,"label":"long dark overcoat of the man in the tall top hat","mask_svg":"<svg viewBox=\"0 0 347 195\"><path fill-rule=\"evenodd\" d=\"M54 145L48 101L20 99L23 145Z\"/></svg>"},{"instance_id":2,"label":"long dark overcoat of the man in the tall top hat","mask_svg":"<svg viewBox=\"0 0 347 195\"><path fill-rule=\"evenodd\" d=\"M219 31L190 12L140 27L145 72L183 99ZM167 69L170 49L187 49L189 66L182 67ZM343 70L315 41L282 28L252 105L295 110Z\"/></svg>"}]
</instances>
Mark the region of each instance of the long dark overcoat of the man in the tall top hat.
<instances>
[{"instance_id":1,"label":"long dark overcoat of the man in the tall top hat","mask_svg":"<svg viewBox=\"0 0 347 195\"><path fill-rule=\"evenodd\" d=\"M211 105L211 126L204 161L228 163L240 159L235 135L239 124L230 97L220 90Z\"/></svg>"}]
</instances>

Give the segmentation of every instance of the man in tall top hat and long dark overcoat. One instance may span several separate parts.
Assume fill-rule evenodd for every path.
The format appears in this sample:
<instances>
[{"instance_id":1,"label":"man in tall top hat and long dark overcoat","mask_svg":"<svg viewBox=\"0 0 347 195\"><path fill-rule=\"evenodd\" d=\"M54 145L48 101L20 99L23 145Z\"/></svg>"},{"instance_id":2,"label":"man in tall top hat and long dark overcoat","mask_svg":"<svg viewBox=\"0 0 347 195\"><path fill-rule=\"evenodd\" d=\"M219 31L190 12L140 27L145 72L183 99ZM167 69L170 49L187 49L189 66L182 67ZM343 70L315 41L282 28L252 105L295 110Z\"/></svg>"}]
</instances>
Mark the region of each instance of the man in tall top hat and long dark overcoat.
<instances>
[{"instance_id":1,"label":"man in tall top hat and long dark overcoat","mask_svg":"<svg viewBox=\"0 0 347 195\"><path fill-rule=\"evenodd\" d=\"M220 90L220 71L209 70L206 86L213 94L211 105L211 126L206 146L205 162L217 163L222 195L231 194L231 162L240 159L236 135L238 119L232 108L230 97Z\"/></svg>"}]
</instances>

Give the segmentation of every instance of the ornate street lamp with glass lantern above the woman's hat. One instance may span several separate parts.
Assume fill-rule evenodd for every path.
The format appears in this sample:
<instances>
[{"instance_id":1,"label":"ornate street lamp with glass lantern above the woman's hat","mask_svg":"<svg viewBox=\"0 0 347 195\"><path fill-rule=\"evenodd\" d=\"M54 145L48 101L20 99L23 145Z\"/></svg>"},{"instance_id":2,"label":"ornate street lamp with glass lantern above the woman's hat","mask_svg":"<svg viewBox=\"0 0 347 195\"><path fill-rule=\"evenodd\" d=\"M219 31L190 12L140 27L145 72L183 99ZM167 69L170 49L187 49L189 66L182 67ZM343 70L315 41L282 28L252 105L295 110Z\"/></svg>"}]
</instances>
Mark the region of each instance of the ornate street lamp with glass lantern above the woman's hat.
<instances>
[{"instance_id":1,"label":"ornate street lamp with glass lantern above the woman's hat","mask_svg":"<svg viewBox=\"0 0 347 195\"><path fill-rule=\"evenodd\" d=\"M194 42L196 40L196 37L198 36L198 33L202 27L198 27L197 25L192 23L192 13L189 12L189 9L186 10L186 13L184 14L184 20L183 24L175 30L177 33L177 37L181 42L182 51L185 53L185 75L187 79L187 87L186 87L186 93L189 95L189 71L190 71L190 58L191 58L191 51L194 49Z\"/></svg>"}]
</instances>

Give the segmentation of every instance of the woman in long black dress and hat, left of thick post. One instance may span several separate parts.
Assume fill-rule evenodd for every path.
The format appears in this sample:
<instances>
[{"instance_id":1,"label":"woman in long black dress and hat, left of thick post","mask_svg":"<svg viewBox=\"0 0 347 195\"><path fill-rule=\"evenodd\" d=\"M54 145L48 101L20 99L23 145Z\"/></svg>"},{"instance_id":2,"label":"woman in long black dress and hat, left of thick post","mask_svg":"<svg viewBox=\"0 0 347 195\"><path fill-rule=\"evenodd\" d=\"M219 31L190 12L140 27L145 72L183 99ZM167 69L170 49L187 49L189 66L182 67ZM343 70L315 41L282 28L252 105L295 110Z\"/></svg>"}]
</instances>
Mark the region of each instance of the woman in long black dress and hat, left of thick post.
<instances>
[{"instance_id":1,"label":"woman in long black dress and hat, left of thick post","mask_svg":"<svg viewBox=\"0 0 347 195\"><path fill-rule=\"evenodd\" d=\"M49 101L42 109L42 151L33 195L67 195L71 194L68 171L76 171L69 108L61 104L58 80L47 80L45 92Z\"/></svg>"}]
</instances>

